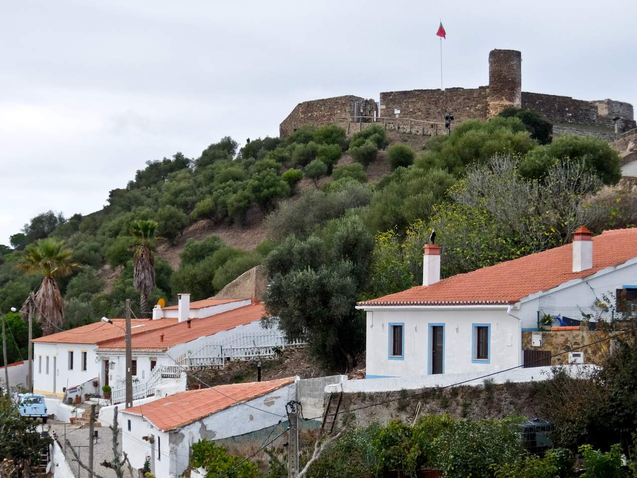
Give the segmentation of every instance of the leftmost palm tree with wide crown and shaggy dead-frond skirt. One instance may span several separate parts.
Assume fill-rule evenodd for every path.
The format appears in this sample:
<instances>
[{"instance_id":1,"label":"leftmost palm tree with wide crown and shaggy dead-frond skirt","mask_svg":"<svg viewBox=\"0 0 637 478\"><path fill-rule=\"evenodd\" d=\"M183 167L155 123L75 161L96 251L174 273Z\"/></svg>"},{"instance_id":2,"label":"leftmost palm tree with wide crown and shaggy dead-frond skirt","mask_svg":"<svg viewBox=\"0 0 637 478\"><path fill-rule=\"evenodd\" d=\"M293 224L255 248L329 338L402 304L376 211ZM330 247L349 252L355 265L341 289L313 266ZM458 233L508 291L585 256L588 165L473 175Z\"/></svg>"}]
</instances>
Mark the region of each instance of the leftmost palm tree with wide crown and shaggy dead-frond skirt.
<instances>
[{"instance_id":1,"label":"leftmost palm tree with wide crown and shaggy dead-frond skirt","mask_svg":"<svg viewBox=\"0 0 637 478\"><path fill-rule=\"evenodd\" d=\"M61 330L64 321L64 300L55 279L66 277L80 267L71 262L71 249L64 249L62 241L45 238L25 248L18 268L30 274L44 275L35 296L36 317L42 325L43 335Z\"/></svg>"}]
</instances>

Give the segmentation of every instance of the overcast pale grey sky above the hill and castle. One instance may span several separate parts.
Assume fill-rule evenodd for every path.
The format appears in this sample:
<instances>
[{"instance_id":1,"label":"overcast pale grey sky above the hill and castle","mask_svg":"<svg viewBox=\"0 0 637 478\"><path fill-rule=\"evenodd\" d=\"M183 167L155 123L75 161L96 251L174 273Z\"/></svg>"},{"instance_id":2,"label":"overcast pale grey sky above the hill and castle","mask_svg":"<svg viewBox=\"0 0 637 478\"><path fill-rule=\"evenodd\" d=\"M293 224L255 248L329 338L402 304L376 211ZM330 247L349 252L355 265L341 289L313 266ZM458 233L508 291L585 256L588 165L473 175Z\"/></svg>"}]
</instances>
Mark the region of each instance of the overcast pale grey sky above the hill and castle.
<instances>
[{"instance_id":1,"label":"overcast pale grey sky above the hill and castle","mask_svg":"<svg viewBox=\"0 0 637 478\"><path fill-rule=\"evenodd\" d=\"M300 101L488 83L637 103L637 3L3 1L0 243L48 209L87 214L148 160L278 135Z\"/></svg>"}]
</instances>

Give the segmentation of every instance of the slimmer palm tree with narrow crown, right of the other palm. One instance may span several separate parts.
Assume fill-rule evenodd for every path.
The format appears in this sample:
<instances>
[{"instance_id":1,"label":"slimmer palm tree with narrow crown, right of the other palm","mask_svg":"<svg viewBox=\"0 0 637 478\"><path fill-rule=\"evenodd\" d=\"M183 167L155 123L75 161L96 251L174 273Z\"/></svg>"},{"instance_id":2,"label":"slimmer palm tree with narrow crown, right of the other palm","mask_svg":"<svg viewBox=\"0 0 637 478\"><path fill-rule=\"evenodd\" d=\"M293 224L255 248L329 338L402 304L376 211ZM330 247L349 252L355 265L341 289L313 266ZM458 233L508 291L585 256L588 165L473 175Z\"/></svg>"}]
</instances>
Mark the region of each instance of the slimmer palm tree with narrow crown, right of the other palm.
<instances>
[{"instance_id":1,"label":"slimmer palm tree with narrow crown, right of the other palm","mask_svg":"<svg viewBox=\"0 0 637 478\"><path fill-rule=\"evenodd\" d=\"M157 239L155 229L155 221L134 221L131 224L131 249L135 250L132 256L132 284L140 291L140 312L143 317L148 316L148 295L155 289L155 256L152 252Z\"/></svg>"}]
</instances>

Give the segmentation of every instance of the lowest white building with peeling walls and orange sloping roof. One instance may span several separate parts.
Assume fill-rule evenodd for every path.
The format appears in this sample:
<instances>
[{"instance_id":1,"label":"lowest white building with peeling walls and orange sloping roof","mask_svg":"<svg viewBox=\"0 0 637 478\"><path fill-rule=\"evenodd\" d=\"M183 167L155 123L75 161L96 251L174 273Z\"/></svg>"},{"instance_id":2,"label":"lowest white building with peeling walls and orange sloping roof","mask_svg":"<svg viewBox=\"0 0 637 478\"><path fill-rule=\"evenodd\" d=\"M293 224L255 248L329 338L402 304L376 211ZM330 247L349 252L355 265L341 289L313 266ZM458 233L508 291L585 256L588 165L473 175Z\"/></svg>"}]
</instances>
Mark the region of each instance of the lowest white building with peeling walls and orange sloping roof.
<instances>
[{"instance_id":1,"label":"lowest white building with peeling walls and orange sloping roof","mask_svg":"<svg viewBox=\"0 0 637 478\"><path fill-rule=\"evenodd\" d=\"M189 390L125 409L120 415L122 449L131 465L146 458L157 478L175 478L189 466L190 447L203 438L262 430L287 419L296 399L296 377Z\"/></svg>"}]
</instances>

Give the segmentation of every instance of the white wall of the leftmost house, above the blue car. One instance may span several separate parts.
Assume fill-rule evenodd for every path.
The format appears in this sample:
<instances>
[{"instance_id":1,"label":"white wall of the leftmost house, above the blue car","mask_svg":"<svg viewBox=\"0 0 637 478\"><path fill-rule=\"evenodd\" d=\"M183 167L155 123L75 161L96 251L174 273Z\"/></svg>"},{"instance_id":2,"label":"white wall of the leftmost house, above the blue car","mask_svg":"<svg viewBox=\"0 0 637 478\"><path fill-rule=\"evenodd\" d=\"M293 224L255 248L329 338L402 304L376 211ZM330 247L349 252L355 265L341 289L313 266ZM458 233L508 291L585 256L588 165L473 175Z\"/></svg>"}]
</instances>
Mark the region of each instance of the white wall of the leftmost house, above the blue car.
<instances>
[{"instance_id":1,"label":"white wall of the leftmost house, above the blue car","mask_svg":"<svg viewBox=\"0 0 637 478\"><path fill-rule=\"evenodd\" d=\"M99 377L101 363L96 363L95 344L33 343L33 391L62 396L62 387L73 387ZM73 370L68 367L68 351L73 351ZM87 370L82 370L82 351L87 352ZM47 373L47 356L49 370ZM42 366L40 368L40 357ZM54 370L55 363L55 370ZM55 379L54 379L55 374Z\"/></svg>"}]
</instances>

